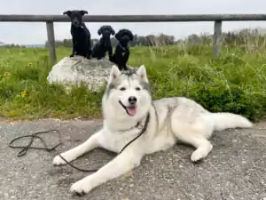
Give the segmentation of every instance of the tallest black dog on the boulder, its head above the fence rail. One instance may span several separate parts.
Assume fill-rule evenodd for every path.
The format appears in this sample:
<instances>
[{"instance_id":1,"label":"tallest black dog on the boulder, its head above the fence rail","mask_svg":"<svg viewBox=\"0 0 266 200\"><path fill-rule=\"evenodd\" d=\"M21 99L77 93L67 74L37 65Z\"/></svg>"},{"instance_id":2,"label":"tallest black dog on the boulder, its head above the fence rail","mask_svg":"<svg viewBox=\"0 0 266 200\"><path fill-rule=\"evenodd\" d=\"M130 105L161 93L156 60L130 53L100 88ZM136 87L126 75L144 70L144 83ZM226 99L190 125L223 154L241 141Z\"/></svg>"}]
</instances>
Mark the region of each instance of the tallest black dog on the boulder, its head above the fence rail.
<instances>
[{"instance_id":1,"label":"tallest black dog on the boulder, its head above the fence rail","mask_svg":"<svg viewBox=\"0 0 266 200\"><path fill-rule=\"evenodd\" d=\"M82 21L82 16L88 14L87 11L67 11L66 14L71 19L71 35L72 35L72 53L70 57L74 55L80 55L90 60L91 56L91 44L90 44L90 31Z\"/></svg>"}]
</instances>

